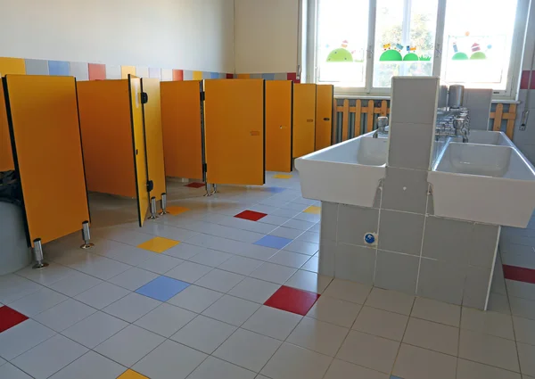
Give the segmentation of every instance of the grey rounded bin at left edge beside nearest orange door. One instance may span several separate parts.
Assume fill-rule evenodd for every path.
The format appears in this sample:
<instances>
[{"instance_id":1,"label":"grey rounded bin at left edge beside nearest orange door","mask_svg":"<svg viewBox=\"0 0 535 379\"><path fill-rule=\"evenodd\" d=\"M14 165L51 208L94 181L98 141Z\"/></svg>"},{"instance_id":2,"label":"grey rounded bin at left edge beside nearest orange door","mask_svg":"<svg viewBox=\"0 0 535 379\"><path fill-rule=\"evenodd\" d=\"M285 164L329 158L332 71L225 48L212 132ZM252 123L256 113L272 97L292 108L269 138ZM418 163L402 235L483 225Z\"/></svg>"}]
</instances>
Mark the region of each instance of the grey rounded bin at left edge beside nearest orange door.
<instances>
[{"instance_id":1,"label":"grey rounded bin at left edge beside nearest orange door","mask_svg":"<svg viewBox=\"0 0 535 379\"><path fill-rule=\"evenodd\" d=\"M0 275L25 268L31 263L21 207L0 202Z\"/></svg>"}]
</instances>

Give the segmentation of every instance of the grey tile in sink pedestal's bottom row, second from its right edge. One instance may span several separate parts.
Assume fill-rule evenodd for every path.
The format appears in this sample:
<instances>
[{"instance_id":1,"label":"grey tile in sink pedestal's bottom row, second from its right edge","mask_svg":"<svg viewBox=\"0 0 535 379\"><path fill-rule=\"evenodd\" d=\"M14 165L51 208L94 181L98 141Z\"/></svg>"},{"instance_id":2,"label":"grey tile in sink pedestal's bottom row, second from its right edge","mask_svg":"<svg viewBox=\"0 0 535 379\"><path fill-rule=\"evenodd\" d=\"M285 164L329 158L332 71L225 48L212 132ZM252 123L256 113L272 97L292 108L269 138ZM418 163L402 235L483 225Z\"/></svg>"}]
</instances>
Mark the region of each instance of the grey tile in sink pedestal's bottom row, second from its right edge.
<instances>
[{"instance_id":1,"label":"grey tile in sink pedestal's bottom row, second from its right edge","mask_svg":"<svg viewBox=\"0 0 535 379\"><path fill-rule=\"evenodd\" d=\"M416 294L461 305L465 287L465 268L440 260L422 258Z\"/></svg>"}]
</instances>

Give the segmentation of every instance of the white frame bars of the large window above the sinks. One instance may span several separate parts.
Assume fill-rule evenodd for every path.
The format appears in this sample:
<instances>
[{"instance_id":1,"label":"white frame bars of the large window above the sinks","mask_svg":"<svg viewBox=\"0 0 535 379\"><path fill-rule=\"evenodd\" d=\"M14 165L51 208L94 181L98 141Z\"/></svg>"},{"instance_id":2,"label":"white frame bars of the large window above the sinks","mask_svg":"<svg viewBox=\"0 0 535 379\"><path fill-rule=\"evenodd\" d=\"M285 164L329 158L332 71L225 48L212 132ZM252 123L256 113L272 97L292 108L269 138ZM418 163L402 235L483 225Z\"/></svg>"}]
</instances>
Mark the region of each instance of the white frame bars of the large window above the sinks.
<instances>
[{"instance_id":1,"label":"white frame bars of the large window above the sinks","mask_svg":"<svg viewBox=\"0 0 535 379\"><path fill-rule=\"evenodd\" d=\"M306 72L306 77L302 78L303 82L319 82L319 65L317 62L317 40L318 40L318 1L319 0L301 0L307 3L307 27L301 29L306 36L300 38L300 41L306 44L305 59L302 59L302 66ZM411 0L405 0L410 4ZM437 23L435 29L435 51L432 61L432 76L440 77L442 68L442 47L444 42L444 29L446 22L446 8L448 0L438 0ZM518 0L516 15L514 19L514 31L511 41L511 55L509 57L509 69L507 71L506 89L493 90L493 100L514 101L518 95L518 86L522 72L520 71L523 59L523 43L525 39L528 11L530 0ZM375 21L377 14L377 0L369 0L368 6L368 36L366 50L366 83L365 87L337 87L334 84L334 95L336 97L346 98L385 98L391 95L390 87L373 87L374 78L374 42L375 42Z\"/></svg>"}]
</instances>

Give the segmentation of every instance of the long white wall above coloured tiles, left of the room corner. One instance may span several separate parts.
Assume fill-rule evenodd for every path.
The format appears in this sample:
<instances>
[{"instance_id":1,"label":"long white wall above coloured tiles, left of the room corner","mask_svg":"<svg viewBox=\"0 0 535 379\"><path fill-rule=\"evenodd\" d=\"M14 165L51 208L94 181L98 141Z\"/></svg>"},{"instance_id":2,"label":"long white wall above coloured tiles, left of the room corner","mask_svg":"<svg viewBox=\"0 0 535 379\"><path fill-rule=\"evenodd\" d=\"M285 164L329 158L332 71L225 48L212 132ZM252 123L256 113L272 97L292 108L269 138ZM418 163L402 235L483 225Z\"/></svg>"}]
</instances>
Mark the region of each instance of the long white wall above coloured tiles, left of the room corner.
<instances>
[{"instance_id":1,"label":"long white wall above coloured tiles, left of the room corner","mask_svg":"<svg viewBox=\"0 0 535 379\"><path fill-rule=\"evenodd\" d=\"M232 0L0 0L0 55L234 72Z\"/></svg>"}]
</instances>

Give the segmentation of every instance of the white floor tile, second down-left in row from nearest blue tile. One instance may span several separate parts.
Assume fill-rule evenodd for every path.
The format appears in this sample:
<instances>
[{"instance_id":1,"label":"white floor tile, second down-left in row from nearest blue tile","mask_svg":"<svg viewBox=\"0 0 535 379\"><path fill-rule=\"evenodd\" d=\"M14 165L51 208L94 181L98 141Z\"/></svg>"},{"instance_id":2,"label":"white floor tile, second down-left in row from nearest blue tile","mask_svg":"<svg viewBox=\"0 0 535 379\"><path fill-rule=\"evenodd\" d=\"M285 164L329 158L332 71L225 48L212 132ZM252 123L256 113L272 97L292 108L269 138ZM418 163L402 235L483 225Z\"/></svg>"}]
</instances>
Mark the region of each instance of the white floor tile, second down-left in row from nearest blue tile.
<instances>
[{"instance_id":1,"label":"white floor tile, second down-left in row from nearest blue tile","mask_svg":"<svg viewBox=\"0 0 535 379\"><path fill-rule=\"evenodd\" d=\"M123 320L98 311L78 322L78 324L65 329L62 334L89 349L94 349L96 345L104 342L127 326L128 323Z\"/></svg>"}]
</instances>

